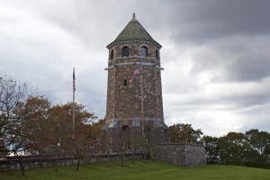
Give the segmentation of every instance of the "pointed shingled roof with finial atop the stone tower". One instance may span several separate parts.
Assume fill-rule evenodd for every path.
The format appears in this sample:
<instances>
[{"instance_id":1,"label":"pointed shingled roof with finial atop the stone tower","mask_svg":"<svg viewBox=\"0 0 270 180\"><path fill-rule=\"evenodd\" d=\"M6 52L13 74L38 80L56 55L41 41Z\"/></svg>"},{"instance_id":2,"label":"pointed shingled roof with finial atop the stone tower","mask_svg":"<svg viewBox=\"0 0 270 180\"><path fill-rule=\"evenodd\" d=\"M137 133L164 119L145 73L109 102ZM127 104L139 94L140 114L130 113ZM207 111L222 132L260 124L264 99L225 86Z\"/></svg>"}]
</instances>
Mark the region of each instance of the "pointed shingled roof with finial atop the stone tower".
<instances>
[{"instance_id":1,"label":"pointed shingled roof with finial atop the stone tower","mask_svg":"<svg viewBox=\"0 0 270 180\"><path fill-rule=\"evenodd\" d=\"M135 18L135 14L133 14L133 18L131 19L130 23L126 25L126 27L121 31L118 37L112 41L112 43L126 40L144 40L157 42L148 34L148 31L142 27L139 21Z\"/></svg>"}]
</instances>

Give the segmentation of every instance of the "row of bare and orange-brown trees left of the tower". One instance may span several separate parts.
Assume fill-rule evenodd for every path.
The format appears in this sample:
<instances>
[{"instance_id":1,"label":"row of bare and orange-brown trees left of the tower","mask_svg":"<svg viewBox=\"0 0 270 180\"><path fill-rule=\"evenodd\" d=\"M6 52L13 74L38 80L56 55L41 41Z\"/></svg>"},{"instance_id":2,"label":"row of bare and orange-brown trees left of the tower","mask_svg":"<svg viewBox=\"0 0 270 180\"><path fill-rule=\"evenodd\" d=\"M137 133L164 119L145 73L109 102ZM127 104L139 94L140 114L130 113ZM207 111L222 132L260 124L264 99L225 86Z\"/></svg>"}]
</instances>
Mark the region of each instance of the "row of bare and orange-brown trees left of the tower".
<instances>
[{"instance_id":1,"label":"row of bare and orange-brown trees left of the tower","mask_svg":"<svg viewBox=\"0 0 270 180\"><path fill-rule=\"evenodd\" d=\"M22 155L72 156L79 165L96 144L103 121L83 104L52 105L30 89L9 76L0 77L0 157L18 157L22 170Z\"/></svg>"}]
</instances>

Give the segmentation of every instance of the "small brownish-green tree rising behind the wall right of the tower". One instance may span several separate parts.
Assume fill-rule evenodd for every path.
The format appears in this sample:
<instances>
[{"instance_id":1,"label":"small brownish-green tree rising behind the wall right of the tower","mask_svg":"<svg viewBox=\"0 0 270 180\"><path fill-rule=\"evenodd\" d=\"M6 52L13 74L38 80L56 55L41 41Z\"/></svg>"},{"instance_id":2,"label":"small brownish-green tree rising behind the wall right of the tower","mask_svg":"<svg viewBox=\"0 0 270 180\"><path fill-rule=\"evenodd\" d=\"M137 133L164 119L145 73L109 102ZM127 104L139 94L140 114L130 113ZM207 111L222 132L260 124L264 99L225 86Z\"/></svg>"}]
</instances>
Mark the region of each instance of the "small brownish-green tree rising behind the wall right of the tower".
<instances>
[{"instance_id":1,"label":"small brownish-green tree rising behind the wall right of the tower","mask_svg":"<svg viewBox=\"0 0 270 180\"><path fill-rule=\"evenodd\" d=\"M169 130L172 142L202 143L202 130L193 130L191 124L177 123Z\"/></svg>"}]
</instances>

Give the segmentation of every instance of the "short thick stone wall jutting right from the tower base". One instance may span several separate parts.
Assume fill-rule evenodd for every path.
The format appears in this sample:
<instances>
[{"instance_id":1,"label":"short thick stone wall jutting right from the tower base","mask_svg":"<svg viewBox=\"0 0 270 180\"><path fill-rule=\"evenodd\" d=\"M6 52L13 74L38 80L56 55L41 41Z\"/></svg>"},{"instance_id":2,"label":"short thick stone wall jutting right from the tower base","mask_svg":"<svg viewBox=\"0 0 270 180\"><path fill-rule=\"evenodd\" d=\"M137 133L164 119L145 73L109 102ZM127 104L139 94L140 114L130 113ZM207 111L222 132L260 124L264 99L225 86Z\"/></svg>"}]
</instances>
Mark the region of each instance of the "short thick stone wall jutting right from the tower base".
<instances>
[{"instance_id":1,"label":"short thick stone wall jutting right from the tower base","mask_svg":"<svg viewBox=\"0 0 270 180\"><path fill-rule=\"evenodd\" d=\"M157 145L155 158L181 166L206 165L205 148L200 144L168 143Z\"/></svg>"}]
</instances>

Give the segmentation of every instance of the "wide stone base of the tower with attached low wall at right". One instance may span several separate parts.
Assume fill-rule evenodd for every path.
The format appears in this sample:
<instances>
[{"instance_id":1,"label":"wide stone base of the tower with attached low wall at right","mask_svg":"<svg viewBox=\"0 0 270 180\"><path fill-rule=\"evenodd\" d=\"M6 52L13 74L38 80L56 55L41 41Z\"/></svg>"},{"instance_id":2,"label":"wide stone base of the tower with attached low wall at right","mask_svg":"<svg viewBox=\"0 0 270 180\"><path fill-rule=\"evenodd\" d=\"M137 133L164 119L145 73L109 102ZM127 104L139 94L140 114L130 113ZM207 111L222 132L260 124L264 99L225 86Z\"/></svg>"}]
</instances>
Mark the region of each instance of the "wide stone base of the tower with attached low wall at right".
<instances>
[{"instance_id":1,"label":"wide stone base of the tower with attached low wall at right","mask_svg":"<svg viewBox=\"0 0 270 180\"><path fill-rule=\"evenodd\" d=\"M134 121L111 121L102 128L103 153L142 153L157 160L181 166L206 164L202 144L170 143L169 130L162 121L145 121L136 126Z\"/></svg>"}]
</instances>

